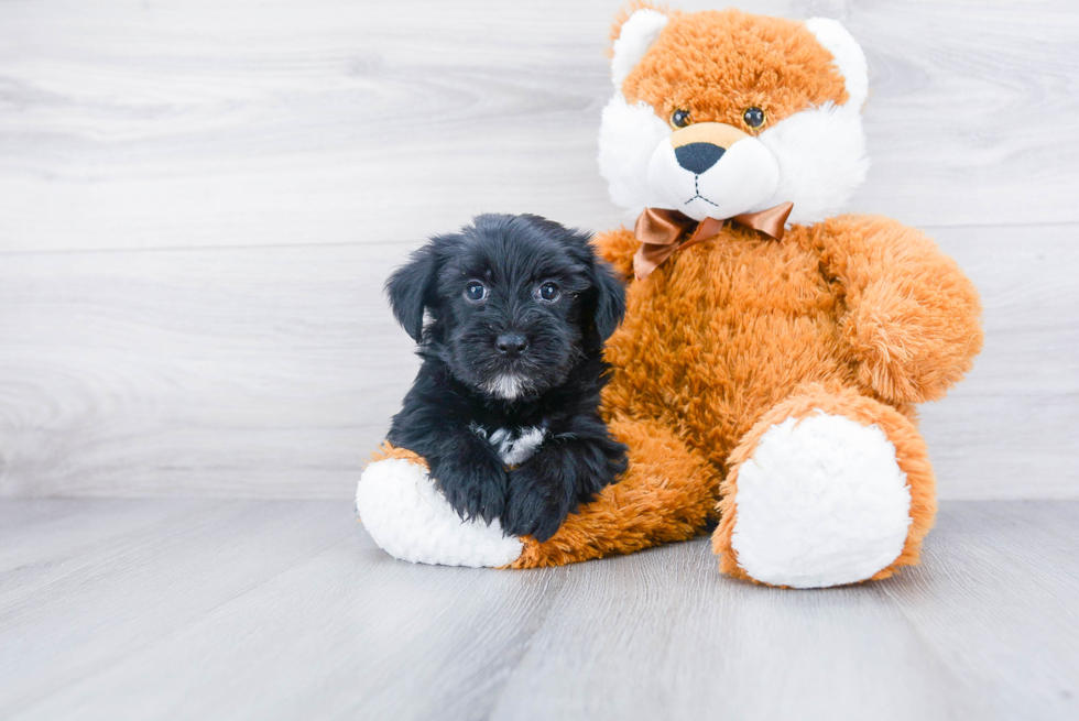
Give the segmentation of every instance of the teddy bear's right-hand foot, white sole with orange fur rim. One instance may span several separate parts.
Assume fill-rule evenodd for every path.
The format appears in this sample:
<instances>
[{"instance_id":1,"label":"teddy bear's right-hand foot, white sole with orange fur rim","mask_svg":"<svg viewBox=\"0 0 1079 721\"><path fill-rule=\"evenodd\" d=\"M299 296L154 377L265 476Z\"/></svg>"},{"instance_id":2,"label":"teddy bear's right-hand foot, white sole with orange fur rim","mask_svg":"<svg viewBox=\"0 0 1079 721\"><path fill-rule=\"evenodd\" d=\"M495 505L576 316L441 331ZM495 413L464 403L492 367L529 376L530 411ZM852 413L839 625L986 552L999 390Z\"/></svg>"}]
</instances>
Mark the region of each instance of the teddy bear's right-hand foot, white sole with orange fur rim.
<instances>
[{"instance_id":1,"label":"teddy bear's right-hand foot, white sole with orange fur rim","mask_svg":"<svg viewBox=\"0 0 1079 721\"><path fill-rule=\"evenodd\" d=\"M731 454L712 536L719 568L795 588L886 578L917 564L934 484L906 416L851 390L806 386Z\"/></svg>"}]
</instances>

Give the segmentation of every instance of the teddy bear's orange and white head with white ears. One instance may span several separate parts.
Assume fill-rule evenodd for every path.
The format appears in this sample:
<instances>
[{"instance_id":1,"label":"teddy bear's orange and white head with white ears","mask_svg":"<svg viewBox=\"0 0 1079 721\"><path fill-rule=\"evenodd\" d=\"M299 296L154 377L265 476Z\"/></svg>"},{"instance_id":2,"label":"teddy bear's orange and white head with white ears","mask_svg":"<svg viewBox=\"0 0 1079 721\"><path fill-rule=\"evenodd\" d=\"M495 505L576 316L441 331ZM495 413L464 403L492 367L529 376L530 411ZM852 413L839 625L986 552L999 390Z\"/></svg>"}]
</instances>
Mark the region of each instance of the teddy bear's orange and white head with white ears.
<instances>
[{"instance_id":1,"label":"teddy bear's orange and white head with white ears","mask_svg":"<svg viewBox=\"0 0 1079 721\"><path fill-rule=\"evenodd\" d=\"M633 212L840 210L869 162L865 56L835 20L639 9L615 23L600 172Z\"/></svg>"}]
</instances>

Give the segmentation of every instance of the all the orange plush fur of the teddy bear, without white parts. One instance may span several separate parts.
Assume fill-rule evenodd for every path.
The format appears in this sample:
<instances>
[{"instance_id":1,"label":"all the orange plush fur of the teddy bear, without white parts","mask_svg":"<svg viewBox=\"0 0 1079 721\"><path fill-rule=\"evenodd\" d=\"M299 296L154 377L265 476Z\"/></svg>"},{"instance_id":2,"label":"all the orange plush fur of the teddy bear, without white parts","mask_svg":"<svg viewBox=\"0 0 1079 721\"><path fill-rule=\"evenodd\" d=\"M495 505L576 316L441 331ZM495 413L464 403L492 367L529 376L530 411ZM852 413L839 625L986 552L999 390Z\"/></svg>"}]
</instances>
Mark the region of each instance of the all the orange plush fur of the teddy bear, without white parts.
<instances>
[{"instance_id":1,"label":"all the orange plush fur of the teddy bear, without white parts","mask_svg":"<svg viewBox=\"0 0 1079 721\"><path fill-rule=\"evenodd\" d=\"M733 10L667 14L622 86L657 116L693 108L695 121L755 133L847 100L830 53L802 23ZM742 124L751 106L765 110L760 129ZM630 469L548 542L528 542L514 567L687 539L719 520L720 569L746 577L731 548L740 465L773 425L820 412L879 427L906 474L907 539L873 578L917 562L936 503L914 404L940 398L982 345L978 294L953 261L920 232L864 216L794 226L782 241L728 225L643 281L631 280L631 231L596 243L629 283L603 404Z\"/></svg>"}]
</instances>

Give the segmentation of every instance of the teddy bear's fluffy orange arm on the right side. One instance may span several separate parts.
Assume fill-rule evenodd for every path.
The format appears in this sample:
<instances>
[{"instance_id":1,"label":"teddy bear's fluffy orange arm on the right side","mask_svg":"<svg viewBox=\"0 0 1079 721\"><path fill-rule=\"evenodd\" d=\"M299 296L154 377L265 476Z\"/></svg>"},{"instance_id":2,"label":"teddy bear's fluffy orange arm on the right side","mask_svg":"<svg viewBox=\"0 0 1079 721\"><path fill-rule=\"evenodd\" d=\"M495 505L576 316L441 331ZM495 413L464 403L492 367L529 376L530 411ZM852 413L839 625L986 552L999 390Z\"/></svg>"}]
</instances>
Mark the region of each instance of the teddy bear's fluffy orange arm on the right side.
<instances>
[{"instance_id":1,"label":"teddy bear's fluffy orange arm on the right side","mask_svg":"<svg viewBox=\"0 0 1079 721\"><path fill-rule=\"evenodd\" d=\"M978 291L922 232L894 220L840 216L815 228L822 266L842 288L841 330L859 382L881 396L944 396L982 347Z\"/></svg>"}]
</instances>

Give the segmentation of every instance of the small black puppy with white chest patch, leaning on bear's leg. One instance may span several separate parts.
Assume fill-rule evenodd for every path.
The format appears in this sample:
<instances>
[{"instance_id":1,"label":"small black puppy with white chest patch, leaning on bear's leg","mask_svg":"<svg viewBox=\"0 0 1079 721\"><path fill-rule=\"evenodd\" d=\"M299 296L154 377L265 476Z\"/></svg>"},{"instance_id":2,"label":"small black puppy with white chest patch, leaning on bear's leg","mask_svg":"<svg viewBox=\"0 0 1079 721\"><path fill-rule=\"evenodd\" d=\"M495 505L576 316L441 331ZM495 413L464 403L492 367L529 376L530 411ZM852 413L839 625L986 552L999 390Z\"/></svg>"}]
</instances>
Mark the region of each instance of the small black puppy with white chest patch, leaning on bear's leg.
<instances>
[{"instance_id":1,"label":"small black puppy with white chest patch, leaning on bear's leg","mask_svg":"<svg viewBox=\"0 0 1079 721\"><path fill-rule=\"evenodd\" d=\"M472 223L386 282L423 359L386 439L426 459L462 518L546 540L625 470L598 413L624 291L586 233L538 216Z\"/></svg>"}]
</instances>

